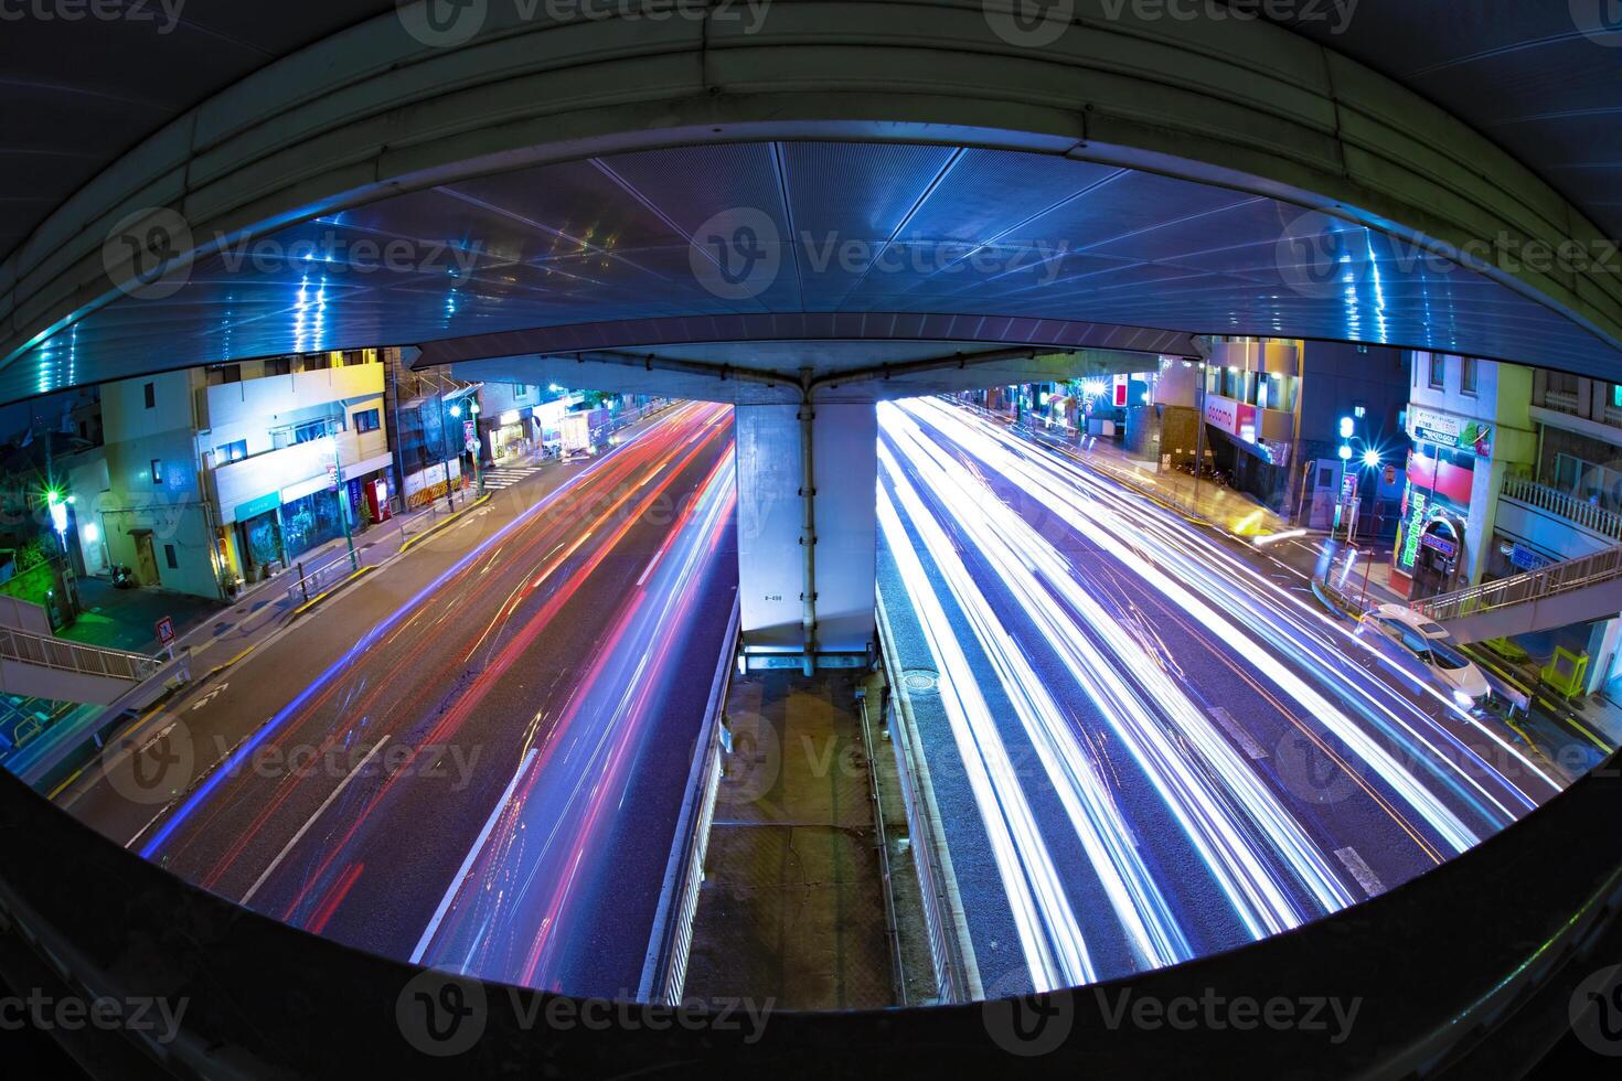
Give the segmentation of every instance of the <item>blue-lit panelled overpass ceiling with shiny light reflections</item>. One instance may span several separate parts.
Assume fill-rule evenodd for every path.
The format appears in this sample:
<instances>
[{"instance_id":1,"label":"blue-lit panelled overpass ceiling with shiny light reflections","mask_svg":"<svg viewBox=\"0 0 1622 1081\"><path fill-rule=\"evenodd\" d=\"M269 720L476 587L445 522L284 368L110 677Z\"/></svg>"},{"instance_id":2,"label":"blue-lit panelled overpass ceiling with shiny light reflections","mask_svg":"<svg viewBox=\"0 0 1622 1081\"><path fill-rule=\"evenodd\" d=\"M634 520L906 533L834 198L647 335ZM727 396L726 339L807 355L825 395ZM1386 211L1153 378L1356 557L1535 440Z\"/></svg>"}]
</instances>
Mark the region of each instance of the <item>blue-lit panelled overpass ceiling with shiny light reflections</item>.
<instances>
[{"instance_id":1,"label":"blue-lit panelled overpass ceiling with shiny light reflections","mask_svg":"<svg viewBox=\"0 0 1622 1081\"><path fill-rule=\"evenodd\" d=\"M733 250L749 259L722 267ZM0 371L0 400L217 360L787 311L1354 340L1622 381L1622 357L1559 313L1275 199L1007 151L762 143L545 165L284 229L172 295L86 316Z\"/></svg>"}]
</instances>

